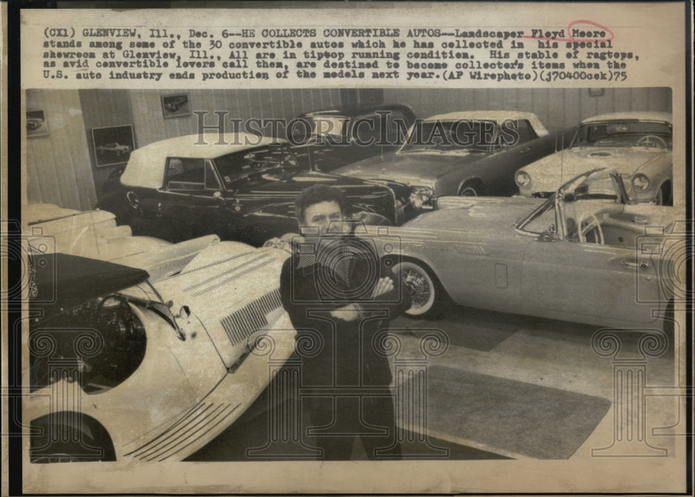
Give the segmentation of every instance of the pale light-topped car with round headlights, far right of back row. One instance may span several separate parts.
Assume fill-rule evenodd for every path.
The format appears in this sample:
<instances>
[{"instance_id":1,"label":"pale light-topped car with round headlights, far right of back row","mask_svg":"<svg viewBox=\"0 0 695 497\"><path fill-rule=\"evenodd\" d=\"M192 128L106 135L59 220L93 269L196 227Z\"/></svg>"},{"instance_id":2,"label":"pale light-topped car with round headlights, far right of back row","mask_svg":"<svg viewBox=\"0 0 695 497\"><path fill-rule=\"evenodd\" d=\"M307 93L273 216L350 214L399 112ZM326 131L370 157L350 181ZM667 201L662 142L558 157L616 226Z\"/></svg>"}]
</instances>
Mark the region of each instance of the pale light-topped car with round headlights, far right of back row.
<instances>
[{"instance_id":1,"label":"pale light-topped car with round headlights, far right of back row","mask_svg":"<svg viewBox=\"0 0 695 497\"><path fill-rule=\"evenodd\" d=\"M670 113L620 112L583 120L571 145L516 172L519 193L547 197L567 179L594 168L621 173L630 199L673 202Z\"/></svg>"}]
</instances>

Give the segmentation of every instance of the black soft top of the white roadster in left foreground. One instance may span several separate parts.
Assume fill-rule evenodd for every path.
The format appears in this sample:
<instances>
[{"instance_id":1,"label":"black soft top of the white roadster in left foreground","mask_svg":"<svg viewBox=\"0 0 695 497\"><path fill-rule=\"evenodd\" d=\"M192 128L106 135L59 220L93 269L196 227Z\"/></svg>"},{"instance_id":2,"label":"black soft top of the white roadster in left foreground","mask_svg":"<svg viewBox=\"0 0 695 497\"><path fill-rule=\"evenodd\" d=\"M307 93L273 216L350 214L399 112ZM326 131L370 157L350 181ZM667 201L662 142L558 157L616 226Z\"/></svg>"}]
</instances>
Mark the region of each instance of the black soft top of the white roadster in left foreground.
<instances>
[{"instance_id":1,"label":"black soft top of the white roadster in left foreground","mask_svg":"<svg viewBox=\"0 0 695 497\"><path fill-rule=\"evenodd\" d=\"M149 278L142 269L67 254L31 255L29 264L30 313L40 313L40 320Z\"/></svg>"}]
</instances>

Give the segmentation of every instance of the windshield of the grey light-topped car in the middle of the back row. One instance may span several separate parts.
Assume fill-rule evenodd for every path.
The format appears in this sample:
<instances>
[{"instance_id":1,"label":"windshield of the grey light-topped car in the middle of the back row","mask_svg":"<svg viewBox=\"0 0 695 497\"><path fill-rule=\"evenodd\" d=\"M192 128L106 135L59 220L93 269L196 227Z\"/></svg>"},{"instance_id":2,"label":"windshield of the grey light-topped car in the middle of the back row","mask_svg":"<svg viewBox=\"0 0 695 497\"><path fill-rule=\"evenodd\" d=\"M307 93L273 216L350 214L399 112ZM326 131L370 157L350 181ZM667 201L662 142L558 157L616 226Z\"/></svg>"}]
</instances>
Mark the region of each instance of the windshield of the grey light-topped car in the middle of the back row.
<instances>
[{"instance_id":1,"label":"windshield of the grey light-topped car in the middle of the back row","mask_svg":"<svg viewBox=\"0 0 695 497\"><path fill-rule=\"evenodd\" d=\"M418 122L398 151L411 153L484 153L499 140L498 126L493 121L428 121Z\"/></svg>"}]
</instances>

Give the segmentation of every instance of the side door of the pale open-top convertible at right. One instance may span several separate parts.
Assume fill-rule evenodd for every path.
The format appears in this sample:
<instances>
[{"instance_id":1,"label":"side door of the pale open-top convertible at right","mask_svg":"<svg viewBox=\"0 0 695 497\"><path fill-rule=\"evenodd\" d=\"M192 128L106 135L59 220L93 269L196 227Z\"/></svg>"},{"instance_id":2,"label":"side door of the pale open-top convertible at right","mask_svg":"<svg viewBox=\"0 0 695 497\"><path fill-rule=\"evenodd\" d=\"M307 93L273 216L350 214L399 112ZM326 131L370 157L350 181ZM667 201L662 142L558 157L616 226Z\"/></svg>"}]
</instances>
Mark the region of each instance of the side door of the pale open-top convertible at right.
<instances>
[{"instance_id":1,"label":"side door of the pale open-top convertible at right","mask_svg":"<svg viewBox=\"0 0 695 497\"><path fill-rule=\"evenodd\" d=\"M547 239L547 238L546 238ZM637 285L655 286L650 254L632 247L572 241L530 243L523 256L521 293L539 316L584 323L652 323L651 307L637 302ZM548 309L550 313L544 313Z\"/></svg>"}]
</instances>

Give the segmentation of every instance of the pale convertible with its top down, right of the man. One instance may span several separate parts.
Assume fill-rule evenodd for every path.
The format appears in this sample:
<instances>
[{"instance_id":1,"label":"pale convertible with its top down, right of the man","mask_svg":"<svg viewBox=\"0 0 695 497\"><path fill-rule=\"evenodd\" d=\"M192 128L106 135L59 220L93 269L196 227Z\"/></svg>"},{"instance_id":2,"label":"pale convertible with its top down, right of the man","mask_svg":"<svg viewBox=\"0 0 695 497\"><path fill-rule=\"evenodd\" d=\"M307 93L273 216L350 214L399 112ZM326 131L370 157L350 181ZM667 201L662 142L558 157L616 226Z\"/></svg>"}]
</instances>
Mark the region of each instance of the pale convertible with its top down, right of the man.
<instances>
[{"instance_id":1,"label":"pale convertible with its top down, right of the man","mask_svg":"<svg viewBox=\"0 0 695 497\"><path fill-rule=\"evenodd\" d=\"M411 316L436 313L448 296L589 325L652 325L685 282L673 257L685 253L685 224L673 209L626 201L620 175L605 169L548 199L443 197L389 227L400 253L382 255L413 291Z\"/></svg>"}]
</instances>

